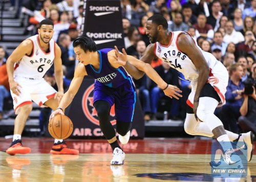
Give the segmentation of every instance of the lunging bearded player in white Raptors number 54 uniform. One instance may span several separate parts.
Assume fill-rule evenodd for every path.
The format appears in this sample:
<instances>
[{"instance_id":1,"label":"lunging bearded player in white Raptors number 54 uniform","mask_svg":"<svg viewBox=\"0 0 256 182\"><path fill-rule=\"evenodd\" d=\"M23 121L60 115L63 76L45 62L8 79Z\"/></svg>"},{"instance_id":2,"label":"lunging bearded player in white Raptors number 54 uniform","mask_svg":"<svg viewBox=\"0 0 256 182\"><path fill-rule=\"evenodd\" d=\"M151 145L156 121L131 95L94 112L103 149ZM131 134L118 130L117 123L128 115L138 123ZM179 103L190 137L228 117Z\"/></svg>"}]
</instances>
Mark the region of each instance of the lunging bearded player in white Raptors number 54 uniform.
<instances>
[{"instance_id":1,"label":"lunging bearded player in white Raptors number 54 uniform","mask_svg":"<svg viewBox=\"0 0 256 182\"><path fill-rule=\"evenodd\" d=\"M185 132L190 135L215 137L225 152L225 163L232 168L241 167L238 157L232 161L233 147L230 141L245 142L247 161L251 160L253 134L234 134L225 131L221 120L214 115L217 107L225 103L225 92L228 84L228 72L221 62L213 55L203 51L193 38L186 32L168 32L168 24L161 15L148 18L146 23L146 35L151 44L147 46L144 56L140 59L150 63L155 56L169 64L170 67L184 74L185 79L192 85L191 93L187 100L187 114L184 123ZM132 65L140 64L135 58L130 58L131 64L126 64L126 53L116 51L116 56L122 58L117 61L124 65L125 69L138 79L143 72L133 69ZM133 61L131 61L133 60ZM237 157L237 156L234 156ZM240 162L238 162L240 160ZM225 163L214 163L214 168L225 168ZM230 166L231 165L231 166ZM240 166L239 166L240 165Z\"/></svg>"}]
</instances>

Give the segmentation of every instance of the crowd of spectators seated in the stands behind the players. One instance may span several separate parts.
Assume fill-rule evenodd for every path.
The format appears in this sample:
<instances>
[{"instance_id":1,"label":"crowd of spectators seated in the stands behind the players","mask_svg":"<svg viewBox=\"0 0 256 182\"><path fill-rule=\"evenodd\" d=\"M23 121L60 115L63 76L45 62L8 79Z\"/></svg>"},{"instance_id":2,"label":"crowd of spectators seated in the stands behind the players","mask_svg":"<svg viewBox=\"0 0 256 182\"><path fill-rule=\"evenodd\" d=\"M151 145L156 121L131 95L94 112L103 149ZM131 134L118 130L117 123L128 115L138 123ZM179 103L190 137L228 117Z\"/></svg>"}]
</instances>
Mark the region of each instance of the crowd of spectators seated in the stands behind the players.
<instances>
[{"instance_id":1,"label":"crowd of spectators seated in the stands behind the players","mask_svg":"<svg viewBox=\"0 0 256 182\"><path fill-rule=\"evenodd\" d=\"M256 0L121 0L124 48L127 54L141 58L150 44L145 24L148 17L161 14L168 22L169 31L186 31L197 44L229 71L226 105L216 114L226 129L234 133L254 129L256 134ZM79 36L82 23L83 1L79 0L23 0L24 13L33 11L29 23L36 30L41 19L54 22L53 39L62 51L62 64L67 69L66 79L71 80L77 64L72 41ZM37 12L37 13L35 13ZM35 31L36 34L36 31ZM0 69L5 59L1 59ZM184 120L186 98L191 86L181 73L165 65L160 59L152 60L152 67L168 84L176 85L183 91L180 100L164 96L155 83L145 75L135 80L137 94L144 112L144 119L168 118ZM0 76L1 77L1 76ZM250 83L250 92L245 88ZM2 87L5 86L5 89ZM0 92L8 86L0 82ZM4 91L3 91L4 90ZM4 95L3 95L4 96ZM2 96L2 97L3 97ZM0 119L1 102L0 97ZM248 106L246 106L248 105ZM251 127L252 126L252 127Z\"/></svg>"}]
</instances>

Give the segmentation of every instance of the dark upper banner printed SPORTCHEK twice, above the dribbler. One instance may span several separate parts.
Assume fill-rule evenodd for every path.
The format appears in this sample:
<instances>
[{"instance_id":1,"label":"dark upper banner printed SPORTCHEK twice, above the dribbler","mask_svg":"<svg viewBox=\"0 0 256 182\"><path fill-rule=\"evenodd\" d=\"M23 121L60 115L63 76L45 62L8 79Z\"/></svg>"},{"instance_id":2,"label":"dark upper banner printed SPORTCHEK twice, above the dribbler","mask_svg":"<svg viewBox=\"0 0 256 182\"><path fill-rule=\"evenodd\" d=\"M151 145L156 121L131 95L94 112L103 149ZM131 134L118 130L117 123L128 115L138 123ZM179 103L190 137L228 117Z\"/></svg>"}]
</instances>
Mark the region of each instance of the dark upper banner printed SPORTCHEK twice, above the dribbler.
<instances>
[{"instance_id":1,"label":"dark upper banner printed SPORTCHEK twice, above the dribbler","mask_svg":"<svg viewBox=\"0 0 256 182\"><path fill-rule=\"evenodd\" d=\"M91 37L98 49L124 48L120 0L87 0L83 35Z\"/></svg>"}]
</instances>

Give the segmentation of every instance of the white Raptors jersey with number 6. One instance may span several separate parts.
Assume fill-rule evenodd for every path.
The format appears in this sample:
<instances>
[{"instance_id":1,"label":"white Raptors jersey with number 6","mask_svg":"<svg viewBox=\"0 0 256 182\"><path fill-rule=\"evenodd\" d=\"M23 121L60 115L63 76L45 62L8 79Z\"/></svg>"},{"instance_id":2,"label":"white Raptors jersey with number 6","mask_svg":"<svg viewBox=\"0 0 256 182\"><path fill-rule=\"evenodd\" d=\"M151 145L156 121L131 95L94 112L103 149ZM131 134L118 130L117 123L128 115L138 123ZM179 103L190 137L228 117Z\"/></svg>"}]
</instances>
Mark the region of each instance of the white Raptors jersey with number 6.
<instances>
[{"instance_id":1,"label":"white Raptors jersey with number 6","mask_svg":"<svg viewBox=\"0 0 256 182\"><path fill-rule=\"evenodd\" d=\"M55 41L50 40L50 52L46 53L39 44L39 35L28 38L33 43L31 56L25 55L15 64L14 76L41 79L46 71L50 69L55 58Z\"/></svg>"}]
</instances>

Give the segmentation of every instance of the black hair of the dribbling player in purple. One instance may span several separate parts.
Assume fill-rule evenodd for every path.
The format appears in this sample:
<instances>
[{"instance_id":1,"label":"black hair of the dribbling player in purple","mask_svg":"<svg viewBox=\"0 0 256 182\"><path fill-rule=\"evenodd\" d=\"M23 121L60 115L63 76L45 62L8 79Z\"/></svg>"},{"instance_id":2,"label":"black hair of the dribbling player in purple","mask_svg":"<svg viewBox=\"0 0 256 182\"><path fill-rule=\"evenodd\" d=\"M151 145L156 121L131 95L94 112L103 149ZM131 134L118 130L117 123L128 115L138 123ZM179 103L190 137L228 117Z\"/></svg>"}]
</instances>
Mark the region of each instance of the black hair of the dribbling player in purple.
<instances>
[{"instance_id":1,"label":"black hair of the dribbling player in purple","mask_svg":"<svg viewBox=\"0 0 256 182\"><path fill-rule=\"evenodd\" d=\"M73 47L80 46L84 53L97 51L97 45L90 37L79 36L73 41Z\"/></svg>"}]
</instances>

